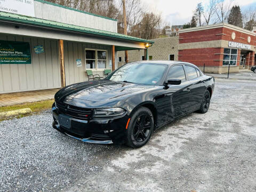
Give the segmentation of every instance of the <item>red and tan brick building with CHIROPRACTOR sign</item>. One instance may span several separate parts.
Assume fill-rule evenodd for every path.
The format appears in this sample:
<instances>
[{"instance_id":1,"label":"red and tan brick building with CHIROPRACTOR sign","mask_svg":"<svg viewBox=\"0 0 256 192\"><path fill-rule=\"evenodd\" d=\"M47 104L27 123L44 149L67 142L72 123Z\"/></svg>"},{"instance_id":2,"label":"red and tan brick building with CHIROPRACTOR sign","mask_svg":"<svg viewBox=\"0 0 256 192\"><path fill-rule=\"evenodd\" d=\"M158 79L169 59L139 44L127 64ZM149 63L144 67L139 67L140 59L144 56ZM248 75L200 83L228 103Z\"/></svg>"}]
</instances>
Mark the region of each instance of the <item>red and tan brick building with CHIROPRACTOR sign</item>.
<instances>
[{"instance_id":1,"label":"red and tan brick building with CHIROPRACTOR sign","mask_svg":"<svg viewBox=\"0 0 256 192\"><path fill-rule=\"evenodd\" d=\"M148 48L148 55L154 60L191 62L201 69L205 65L206 73L227 73L229 65L230 72L238 72L256 65L255 32L227 23L182 29L177 37L153 39L155 44ZM130 51L129 62L143 59L135 56L143 53ZM122 59L123 53L117 54Z\"/></svg>"}]
</instances>

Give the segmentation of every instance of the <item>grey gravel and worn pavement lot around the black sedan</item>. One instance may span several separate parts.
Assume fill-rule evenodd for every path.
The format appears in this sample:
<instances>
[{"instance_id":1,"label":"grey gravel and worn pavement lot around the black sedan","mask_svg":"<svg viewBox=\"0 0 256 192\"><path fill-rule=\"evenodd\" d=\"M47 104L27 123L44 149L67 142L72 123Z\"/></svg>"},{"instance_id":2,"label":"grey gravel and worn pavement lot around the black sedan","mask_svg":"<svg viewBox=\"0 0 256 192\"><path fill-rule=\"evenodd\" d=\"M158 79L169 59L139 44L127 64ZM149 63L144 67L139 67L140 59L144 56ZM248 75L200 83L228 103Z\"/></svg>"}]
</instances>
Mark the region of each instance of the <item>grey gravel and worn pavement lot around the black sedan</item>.
<instances>
[{"instance_id":1,"label":"grey gravel and worn pavement lot around the black sedan","mask_svg":"<svg viewBox=\"0 0 256 192\"><path fill-rule=\"evenodd\" d=\"M0 191L256 191L256 83L218 79L208 113L140 149L83 143L50 111L0 122Z\"/></svg>"}]
</instances>

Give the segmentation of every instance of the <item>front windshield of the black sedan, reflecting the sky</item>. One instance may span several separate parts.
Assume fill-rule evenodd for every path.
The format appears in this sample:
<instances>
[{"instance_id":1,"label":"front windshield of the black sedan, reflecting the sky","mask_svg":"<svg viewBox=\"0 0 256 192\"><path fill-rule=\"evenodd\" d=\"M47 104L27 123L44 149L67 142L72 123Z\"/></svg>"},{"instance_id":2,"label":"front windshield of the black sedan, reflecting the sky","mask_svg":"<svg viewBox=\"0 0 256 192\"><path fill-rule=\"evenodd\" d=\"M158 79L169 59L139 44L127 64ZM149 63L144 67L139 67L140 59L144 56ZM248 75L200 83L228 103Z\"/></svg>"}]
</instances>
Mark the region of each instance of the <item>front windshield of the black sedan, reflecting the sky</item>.
<instances>
[{"instance_id":1,"label":"front windshield of the black sedan, reflecting the sky","mask_svg":"<svg viewBox=\"0 0 256 192\"><path fill-rule=\"evenodd\" d=\"M107 77L115 82L155 85L162 78L166 65L154 63L130 63Z\"/></svg>"}]
</instances>

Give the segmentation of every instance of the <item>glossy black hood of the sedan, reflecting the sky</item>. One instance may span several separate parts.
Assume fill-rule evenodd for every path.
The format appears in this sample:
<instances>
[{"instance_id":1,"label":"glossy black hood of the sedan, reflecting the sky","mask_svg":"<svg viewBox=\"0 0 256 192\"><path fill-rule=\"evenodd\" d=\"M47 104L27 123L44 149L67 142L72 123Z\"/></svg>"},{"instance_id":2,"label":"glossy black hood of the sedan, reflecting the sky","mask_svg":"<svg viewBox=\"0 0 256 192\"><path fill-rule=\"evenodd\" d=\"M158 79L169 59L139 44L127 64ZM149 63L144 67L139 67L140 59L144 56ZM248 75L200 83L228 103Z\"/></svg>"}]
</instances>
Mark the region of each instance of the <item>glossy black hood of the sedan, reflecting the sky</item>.
<instances>
[{"instance_id":1,"label":"glossy black hood of the sedan, reflecting the sky","mask_svg":"<svg viewBox=\"0 0 256 192\"><path fill-rule=\"evenodd\" d=\"M127 97L130 94L145 91L145 89L152 87L154 86L107 80L83 82L64 87L55 95L55 99L66 100L68 98L69 100L107 101Z\"/></svg>"}]
</instances>

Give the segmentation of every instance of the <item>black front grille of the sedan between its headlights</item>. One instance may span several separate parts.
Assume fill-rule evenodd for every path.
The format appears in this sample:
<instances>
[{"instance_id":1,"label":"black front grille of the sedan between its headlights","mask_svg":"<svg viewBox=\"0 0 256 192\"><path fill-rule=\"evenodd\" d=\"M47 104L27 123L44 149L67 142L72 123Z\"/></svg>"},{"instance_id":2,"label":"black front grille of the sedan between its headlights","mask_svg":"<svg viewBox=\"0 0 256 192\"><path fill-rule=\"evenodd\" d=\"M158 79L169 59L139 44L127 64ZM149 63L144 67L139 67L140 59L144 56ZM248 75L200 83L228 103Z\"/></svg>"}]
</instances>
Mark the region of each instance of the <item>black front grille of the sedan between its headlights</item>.
<instances>
[{"instance_id":1,"label":"black front grille of the sedan between its headlights","mask_svg":"<svg viewBox=\"0 0 256 192\"><path fill-rule=\"evenodd\" d=\"M89 119L92 117L92 109L67 105L66 103L56 102L59 113L69 115L77 119Z\"/></svg>"}]
</instances>

